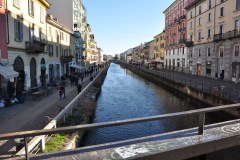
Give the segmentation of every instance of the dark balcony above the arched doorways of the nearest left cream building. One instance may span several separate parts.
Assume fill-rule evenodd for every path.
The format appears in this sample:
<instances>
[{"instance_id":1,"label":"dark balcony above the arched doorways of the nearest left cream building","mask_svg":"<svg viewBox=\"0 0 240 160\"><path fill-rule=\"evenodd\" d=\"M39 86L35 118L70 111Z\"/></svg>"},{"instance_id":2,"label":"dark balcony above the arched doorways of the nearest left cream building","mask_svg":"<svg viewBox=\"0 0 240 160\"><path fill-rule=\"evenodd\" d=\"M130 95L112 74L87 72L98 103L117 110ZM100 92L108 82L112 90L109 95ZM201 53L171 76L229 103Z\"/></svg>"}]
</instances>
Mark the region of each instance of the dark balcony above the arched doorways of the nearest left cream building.
<instances>
[{"instance_id":1,"label":"dark balcony above the arched doorways of the nearest left cream building","mask_svg":"<svg viewBox=\"0 0 240 160\"><path fill-rule=\"evenodd\" d=\"M26 41L26 52L27 53L42 53L45 51L46 41L42 40L33 40L33 41Z\"/></svg>"}]
</instances>

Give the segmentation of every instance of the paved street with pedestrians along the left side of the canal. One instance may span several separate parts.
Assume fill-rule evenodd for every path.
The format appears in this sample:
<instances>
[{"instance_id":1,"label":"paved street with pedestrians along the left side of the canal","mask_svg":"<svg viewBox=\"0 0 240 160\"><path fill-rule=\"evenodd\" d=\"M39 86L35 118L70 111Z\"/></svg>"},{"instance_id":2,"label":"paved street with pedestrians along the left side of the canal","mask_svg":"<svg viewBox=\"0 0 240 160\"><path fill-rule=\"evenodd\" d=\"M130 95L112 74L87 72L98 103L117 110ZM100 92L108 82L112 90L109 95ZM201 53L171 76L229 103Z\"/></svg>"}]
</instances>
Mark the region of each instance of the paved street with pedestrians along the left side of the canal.
<instances>
[{"instance_id":1,"label":"paved street with pedestrians along the left side of the canal","mask_svg":"<svg viewBox=\"0 0 240 160\"><path fill-rule=\"evenodd\" d=\"M89 77L83 81L83 88L90 82ZM77 87L65 87L66 98L61 99L56 88L48 96L44 95L37 100L32 100L30 95L25 97L23 104L0 108L0 134L42 129L48 117L55 117L61 107L65 107L77 95ZM16 152L13 140L0 141L0 159L10 157Z\"/></svg>"}]
</instances>

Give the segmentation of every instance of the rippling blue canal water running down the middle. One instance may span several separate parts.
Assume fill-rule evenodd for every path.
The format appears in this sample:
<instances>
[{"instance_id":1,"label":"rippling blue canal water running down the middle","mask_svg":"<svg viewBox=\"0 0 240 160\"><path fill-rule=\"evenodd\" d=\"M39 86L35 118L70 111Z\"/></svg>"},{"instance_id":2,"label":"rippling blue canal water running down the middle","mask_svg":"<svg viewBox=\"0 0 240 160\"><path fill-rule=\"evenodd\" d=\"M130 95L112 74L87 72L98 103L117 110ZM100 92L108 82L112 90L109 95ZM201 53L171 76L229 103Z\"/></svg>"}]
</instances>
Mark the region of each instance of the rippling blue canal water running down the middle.
<instances>
[{"instance_id":1,"label":"rippling blue canal water running down the middle","mask_svg":"<svg viewBox=\"0 0 240 160\"><path fill-rule=\"evenodd\" d=\"M189 98L180 98L160 85L139 77L118 64L111 64L97 101L92 123L162 115L202 107ZM206 115L206 123L224 120L219 115ZM96 129L87 132L81 146L138 138L169 131L196 127L196 115L163 121L145 122Z\"/></svg>"}]
</instances>

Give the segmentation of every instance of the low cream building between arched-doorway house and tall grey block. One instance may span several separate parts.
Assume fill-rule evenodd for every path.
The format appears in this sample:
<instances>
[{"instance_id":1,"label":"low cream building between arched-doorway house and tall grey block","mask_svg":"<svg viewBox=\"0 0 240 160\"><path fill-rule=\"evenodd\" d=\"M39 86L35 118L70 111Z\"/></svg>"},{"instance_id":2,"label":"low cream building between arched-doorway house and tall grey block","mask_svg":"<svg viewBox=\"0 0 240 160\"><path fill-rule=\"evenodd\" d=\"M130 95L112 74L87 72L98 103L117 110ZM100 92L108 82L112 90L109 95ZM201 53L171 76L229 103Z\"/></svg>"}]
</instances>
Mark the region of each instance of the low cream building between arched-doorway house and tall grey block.
<instances>
[{"instance_id":1,"label":"low cream building between arched-doorway house and tall grey block","mask_svg":"<svg viewBox=\"0 0 240 160\"><path fill-rule=\"evenodd\" d=\"M50 82L60 80L70 74L69 62L75 53L74 32L63 26L58 19L47 15L47 50L48 79ZM75 68L71 67L72 72Z\"/></svg>"}]
</instances>

